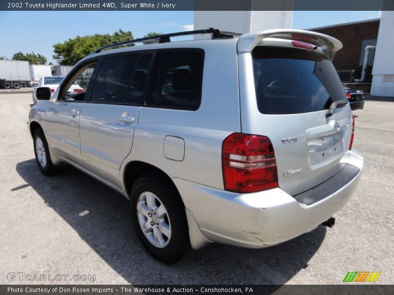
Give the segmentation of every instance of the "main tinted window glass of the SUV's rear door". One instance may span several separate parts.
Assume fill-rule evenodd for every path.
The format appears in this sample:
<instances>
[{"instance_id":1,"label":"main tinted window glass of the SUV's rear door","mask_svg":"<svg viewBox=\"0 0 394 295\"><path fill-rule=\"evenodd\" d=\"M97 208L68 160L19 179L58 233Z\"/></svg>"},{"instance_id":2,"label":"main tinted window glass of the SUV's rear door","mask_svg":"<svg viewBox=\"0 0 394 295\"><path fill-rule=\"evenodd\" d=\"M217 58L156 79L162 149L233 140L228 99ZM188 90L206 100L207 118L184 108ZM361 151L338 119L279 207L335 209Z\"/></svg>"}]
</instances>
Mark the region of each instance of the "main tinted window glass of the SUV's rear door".
<instances>
[{"instance_id":1,"label":"main tinted window glass of the SUV's rear door","mask_svg":"<svg viewBox=\"0 0 394 295\"><path fill-rule=\"evenodd\" d=\"M92 91L91 102L124 103L131 74L139 55L106 57L102 62Z\"/></svg>"}]
</instances>

